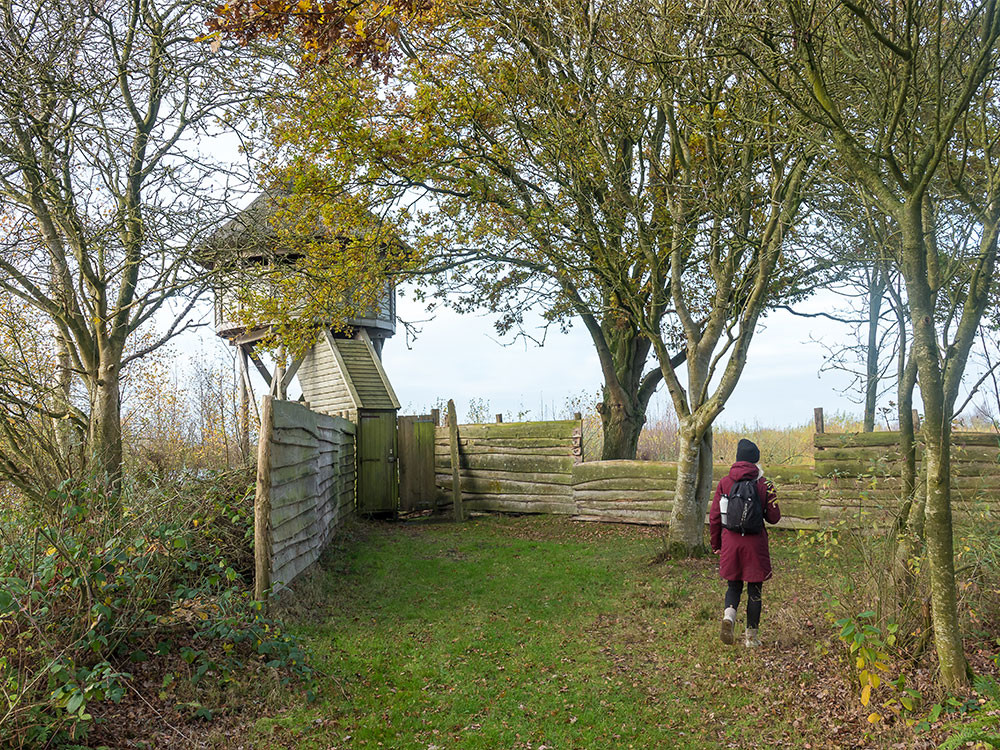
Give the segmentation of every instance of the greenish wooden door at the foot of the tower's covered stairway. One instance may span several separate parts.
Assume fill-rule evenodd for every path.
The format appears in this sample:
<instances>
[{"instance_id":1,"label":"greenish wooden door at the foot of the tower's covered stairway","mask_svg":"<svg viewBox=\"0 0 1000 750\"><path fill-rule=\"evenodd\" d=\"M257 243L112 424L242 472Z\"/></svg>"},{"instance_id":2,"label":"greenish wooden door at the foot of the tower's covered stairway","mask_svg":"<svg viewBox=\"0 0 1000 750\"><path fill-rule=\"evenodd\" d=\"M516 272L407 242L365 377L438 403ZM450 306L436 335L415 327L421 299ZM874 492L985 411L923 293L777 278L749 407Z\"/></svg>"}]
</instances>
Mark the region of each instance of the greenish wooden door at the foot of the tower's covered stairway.
<instances>
[{"instance_id":1,"label":"greenish wooden door at the foot of the tower's covered stairway","mask_svg":"<svg viewBox=\"0 0 1000 750\"><path fill-rule=\"evenodd\" d=\"M399 508L395 409L358 412L358 512L391 515Z\"/></svg>"}]
</instances>

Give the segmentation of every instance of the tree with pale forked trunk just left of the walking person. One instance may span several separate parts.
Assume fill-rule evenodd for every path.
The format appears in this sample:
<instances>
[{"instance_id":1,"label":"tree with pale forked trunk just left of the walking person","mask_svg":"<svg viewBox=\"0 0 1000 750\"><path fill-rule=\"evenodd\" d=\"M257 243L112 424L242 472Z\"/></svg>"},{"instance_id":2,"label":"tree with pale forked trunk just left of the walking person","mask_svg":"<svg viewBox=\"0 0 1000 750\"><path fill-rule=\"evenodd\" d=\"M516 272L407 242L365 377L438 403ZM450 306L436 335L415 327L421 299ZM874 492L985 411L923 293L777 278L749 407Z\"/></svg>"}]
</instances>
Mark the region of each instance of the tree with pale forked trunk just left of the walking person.
<instances>
[{"instance_id":1,"label":"tree with pale forked trunk just left of the walking person","mask_svg":"<svg viewBox=\"0 0 1000 750\"><path fill-rule=\"evenodd\" d=\"M650 277L663 282L651 284L650 304L630 300L680 421L668 548L692 554L703 549L712 492L711 425L739 381L760 317L800 296L817 270L789 251L813 152L779 125L789 113L720 54L716 20L654 15L647 28L656 51L650 66L673 82L659 116L670 149L650 169L669 234L659 252L640 244ZM672 29L686 56L681 74L668 77L677 63L663 62L660 44ZM685 383L663 337L668 310L684 336Z\"/></svg>"}]
</instances>

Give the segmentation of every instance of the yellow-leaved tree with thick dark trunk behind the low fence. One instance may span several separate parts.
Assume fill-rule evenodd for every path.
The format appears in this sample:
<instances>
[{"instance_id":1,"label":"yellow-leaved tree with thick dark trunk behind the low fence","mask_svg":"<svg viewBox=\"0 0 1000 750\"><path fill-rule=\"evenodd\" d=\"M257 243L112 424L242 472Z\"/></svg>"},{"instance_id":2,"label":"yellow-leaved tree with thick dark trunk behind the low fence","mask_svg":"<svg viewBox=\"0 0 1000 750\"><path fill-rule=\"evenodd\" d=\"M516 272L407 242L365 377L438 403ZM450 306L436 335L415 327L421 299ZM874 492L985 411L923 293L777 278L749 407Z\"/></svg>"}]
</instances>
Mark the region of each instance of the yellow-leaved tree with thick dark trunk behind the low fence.
<instances>
[{"instance_id":1,"label":"yellow-leaved tree with thick dark trunk behind the low fence","mask_svg":"<svg viewBox=\"0 0 1000 750\"><path fill-rule=\"evenodd\" d=\"M691 338L669 302L662 256L679 225L656 182L675 174L674 135L702 138L668 129L686 75L683 35L692 34L683 9L670 7L680 26L664 16L655 40L674 45L664 56L675 65L615 52L636 33L653 42L655 13L644 2L457 4L406 38L407 56L388 80L330 59L304 71L304 96L280 99L272 119L276 151L297 173L394 208L409 245L439 290L458 293L460 309L499 312L503 331L529 307L551 323L586 327L604 378L605 458L635 456L663 378L662 367L647 368L648 334L672 360L668 372ZM690 227L729 210L714 194L688 203ZM707 268L708 256L686 260L682 274L695 296L705 288L699 262ZM691 308L692 326L711 300Z\"/></svg>"}]
</instances>

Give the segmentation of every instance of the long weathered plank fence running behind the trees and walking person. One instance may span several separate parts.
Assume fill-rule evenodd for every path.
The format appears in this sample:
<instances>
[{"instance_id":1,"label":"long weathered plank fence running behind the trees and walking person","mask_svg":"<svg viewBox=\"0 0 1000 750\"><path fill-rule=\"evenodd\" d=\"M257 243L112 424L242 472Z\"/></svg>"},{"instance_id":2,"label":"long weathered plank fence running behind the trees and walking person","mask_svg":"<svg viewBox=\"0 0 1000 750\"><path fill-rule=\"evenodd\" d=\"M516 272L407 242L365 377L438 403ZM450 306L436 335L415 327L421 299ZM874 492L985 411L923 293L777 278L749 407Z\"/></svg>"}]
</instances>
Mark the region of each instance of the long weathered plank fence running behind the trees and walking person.
<instances>
[{"instance_id":1,"label":"long weathered plank fence running behind the trees and walking person","mask_svg":"<svg viewBox=\"0 0 1000 750\"><path fill-rule=\"evenodd\" d=\"M955 433L956 508L975 502L1000 510L1000 436ZM580 423L459 425L459 484L470 510L557 513L581 521L665 524L677 466L658 461L582 463ZM815 466L768 466L778 489L779 528L862 526L899 505L899 433L817 433ZM922 453L918 446L918 455ZM435 439L438 507L451 503L447 427ZM716 481L729 471L716 465Z\"/></svg>"}]
</instances>

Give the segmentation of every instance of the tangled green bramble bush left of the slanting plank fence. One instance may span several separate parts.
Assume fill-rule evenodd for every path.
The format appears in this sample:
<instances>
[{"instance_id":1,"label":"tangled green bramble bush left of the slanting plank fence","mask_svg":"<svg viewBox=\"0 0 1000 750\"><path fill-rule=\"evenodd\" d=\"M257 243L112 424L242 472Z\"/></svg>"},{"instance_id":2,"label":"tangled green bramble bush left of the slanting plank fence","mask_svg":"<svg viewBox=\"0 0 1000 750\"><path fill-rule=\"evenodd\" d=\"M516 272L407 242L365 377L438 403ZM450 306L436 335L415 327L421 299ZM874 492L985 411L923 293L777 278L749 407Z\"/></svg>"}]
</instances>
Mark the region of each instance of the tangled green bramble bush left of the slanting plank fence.
<instances>
[{"instance_id":1,"label":"tangled green bramble bush left of the slanting plank fence","mask_svg":"<svg viewBox=\"0 0 1000 750\"><path fill-rule=\"evenodd\" d=\"M122 700L130 668L162 657L187 666L164 687L224 687L255 660L312 696L307 655L249 592L248 480L189 477L117 500L64 486L0 515L0 746L81 741L94 704Z\"/></svg>"}]
</instances>

